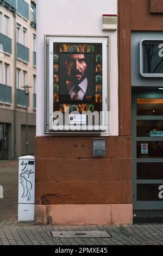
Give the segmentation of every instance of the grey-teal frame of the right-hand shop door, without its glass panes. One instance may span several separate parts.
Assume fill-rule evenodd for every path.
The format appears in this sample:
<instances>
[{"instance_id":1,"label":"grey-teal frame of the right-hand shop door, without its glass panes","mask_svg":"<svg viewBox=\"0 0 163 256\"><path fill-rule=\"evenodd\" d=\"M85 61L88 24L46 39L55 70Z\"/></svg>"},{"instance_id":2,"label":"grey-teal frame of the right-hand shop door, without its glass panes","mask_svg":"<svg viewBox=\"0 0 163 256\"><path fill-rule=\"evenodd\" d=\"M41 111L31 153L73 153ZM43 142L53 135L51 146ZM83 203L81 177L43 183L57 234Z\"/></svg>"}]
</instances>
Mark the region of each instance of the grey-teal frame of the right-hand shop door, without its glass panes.
<instances>
[{"instance_id":1,"label":"grey-teal frame of the right-hand shop door, without its glass panes","mask_svg":"<svg viewBox=\"0 0 163 256\"><path fill-rule=\"evenodd\" d=\"M137 184L162 184L163 180L139 180L136 178L137 163L162 162L162 158L137 158L137 141L163 141L163 137L137 137L137 120L163 120L163 115L137 115L136 99L163 99L163 93L133 93L132 95L132 141L133 141L133 209L134 210L163 210L163 199L161 201L137 201ZM162 170L163 171L163 170Z\"/></svg>"}]
</instances>

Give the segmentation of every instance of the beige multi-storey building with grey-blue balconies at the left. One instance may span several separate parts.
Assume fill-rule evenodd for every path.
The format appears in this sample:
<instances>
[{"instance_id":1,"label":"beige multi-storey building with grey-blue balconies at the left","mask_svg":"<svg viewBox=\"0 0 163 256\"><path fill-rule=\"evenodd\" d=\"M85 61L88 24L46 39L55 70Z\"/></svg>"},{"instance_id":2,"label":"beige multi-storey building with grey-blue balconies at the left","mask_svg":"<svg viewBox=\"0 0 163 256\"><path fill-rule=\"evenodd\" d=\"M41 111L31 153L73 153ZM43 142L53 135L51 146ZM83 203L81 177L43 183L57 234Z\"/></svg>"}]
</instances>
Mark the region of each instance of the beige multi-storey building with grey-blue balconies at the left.
<instances>
[{"instance_id":1,"label":"beige multi-storey building with grey-blue balconies at the left","mask_svg":"<svg viewBox=\"0 0 163 256\"><path fill-rule=\"evenodd\" d=\"M23 86L30 86L29 95ZM0 0L0 159L34 154L36 1Z\"/></svg>"}]
</instances>

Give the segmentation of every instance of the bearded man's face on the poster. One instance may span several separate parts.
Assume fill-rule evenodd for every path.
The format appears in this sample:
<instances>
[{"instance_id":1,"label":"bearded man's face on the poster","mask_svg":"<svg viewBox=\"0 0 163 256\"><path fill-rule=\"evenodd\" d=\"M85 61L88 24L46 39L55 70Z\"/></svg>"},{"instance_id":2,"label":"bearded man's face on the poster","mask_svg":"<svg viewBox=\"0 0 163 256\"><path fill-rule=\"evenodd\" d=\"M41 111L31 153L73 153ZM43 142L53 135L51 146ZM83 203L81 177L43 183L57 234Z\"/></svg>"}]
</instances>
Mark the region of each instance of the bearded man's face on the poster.
<instances>
[{"instance_id":1,"label":"bearded man's face on the poster","mask_svg":"<svg viewBox=\"0 0 163 256\"><path fill-rule=\"evenodd\" d=\"M84 54L67 54L65 62L70 82L79 84L85 79L87 64Z\"/></svg>"}]
</instances>

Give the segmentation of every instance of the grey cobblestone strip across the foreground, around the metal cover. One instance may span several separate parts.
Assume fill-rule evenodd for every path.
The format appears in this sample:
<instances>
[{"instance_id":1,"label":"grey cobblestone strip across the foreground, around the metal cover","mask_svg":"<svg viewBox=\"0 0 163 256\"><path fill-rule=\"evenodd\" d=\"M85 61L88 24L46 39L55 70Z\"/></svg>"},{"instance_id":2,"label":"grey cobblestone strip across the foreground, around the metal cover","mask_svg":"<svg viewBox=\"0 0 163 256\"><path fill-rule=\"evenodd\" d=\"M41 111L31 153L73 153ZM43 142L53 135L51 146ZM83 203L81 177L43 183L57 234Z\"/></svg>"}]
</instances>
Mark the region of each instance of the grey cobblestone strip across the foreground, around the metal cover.
<instances>
[{"instance_id":1,"label":"grey cobblestone strip across the foreground, around the metal cover","mask_svg":"<svg viewBox=\"0 0 163 256\"><path fill-rule=\"evenodd\" d=\"M107 238L52 238L51 231L108 231ZM163 224L56 226L0 223L0 245L163 245Z\"/></svg>"}]
</instances>

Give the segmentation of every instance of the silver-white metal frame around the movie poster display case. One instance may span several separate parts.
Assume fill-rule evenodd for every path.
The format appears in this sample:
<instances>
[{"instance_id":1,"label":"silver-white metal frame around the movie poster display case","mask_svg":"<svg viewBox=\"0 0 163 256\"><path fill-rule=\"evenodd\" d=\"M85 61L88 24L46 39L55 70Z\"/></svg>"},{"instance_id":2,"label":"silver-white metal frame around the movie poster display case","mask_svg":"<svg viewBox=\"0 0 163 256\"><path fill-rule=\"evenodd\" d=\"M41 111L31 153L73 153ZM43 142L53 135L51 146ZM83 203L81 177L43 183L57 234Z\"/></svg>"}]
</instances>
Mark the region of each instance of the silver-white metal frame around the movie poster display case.
<instances>
[{"instance_id":1,"label":"silver-white metal frame around the movie poster display case","mask_svg":"<svg viewBox=\"0 0 163 256\"><path fill-rule=\"evenodd\" d=\"M85 131L72 131L72 130L59 130L59 131L55 131L52 130L51 128L49 129L49 123L50 123L50 114L49 112L51 111L51 105L52 102L49 103L49 97L50 97L50 92L49 92L49 63L51 63L50 61L50 54L53 54L51 52L51 47L50 45L52 44L52 42L54 42L53 40L55 40L56 38L64 38L65 40L63 42L67 42L68 38L76 38L78 39L77 43L82 42L80 39L89 39L90 41L87 43L91 43L91 39L93 39L93 42L96 43L94 40L98 39L99 43L102 43L102 40L106 40L106 64L105 64L105 99L103 97L103 104L105 104L105 109L106 111L108 111L108 116L105 117L106 118L106 124L105 124L105 130L93 130L93 131L89 131L89 130L85 130ZM53 40L51 40L53 39ZM101 39L101 41L100 41ZM51 35L51 34L45 34L44 36L44 41L45 41L45 108L44 108L44 133L45 134L51 134L54 136L68 136L68 135L97 135L97 136L109 136L110 135L110 35ZM85 41L83 41L85 42ZM52 58L52 57L51 57ZM51 71L52 72L52 71ZM105 102L105 103L104 103Z\"/></svg>"}]
</instances>

